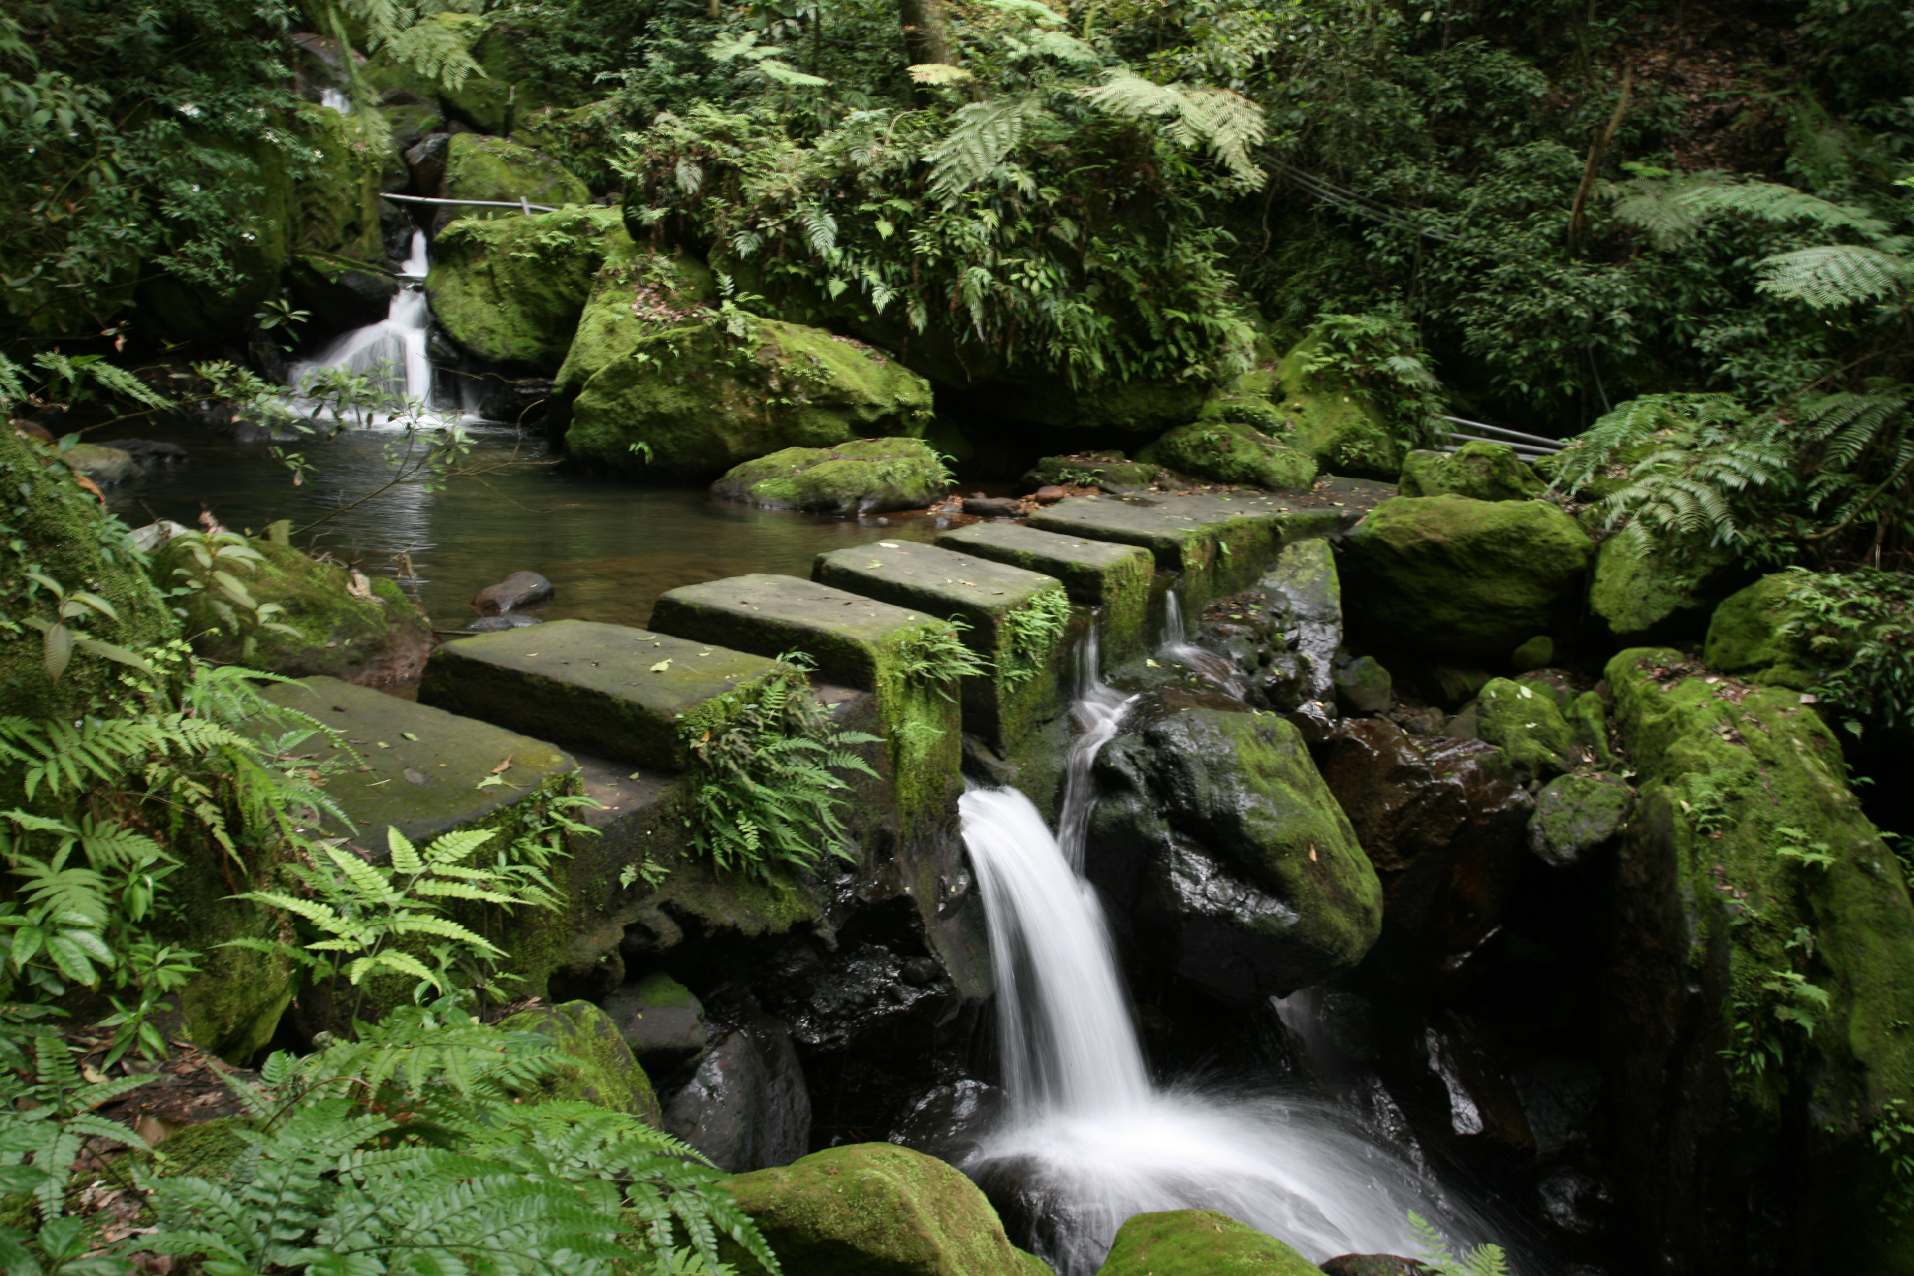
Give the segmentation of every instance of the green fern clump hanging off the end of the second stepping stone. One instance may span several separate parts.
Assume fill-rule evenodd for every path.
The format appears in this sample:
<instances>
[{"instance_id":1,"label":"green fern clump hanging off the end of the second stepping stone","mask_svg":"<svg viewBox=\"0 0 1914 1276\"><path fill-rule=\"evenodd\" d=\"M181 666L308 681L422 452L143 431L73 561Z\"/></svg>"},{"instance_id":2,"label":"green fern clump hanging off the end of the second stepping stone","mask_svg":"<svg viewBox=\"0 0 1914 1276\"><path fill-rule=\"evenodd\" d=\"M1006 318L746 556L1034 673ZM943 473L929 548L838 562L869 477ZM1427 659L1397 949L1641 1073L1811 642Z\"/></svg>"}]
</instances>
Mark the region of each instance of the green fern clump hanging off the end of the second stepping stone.
<instances>
[{"instance_id":1,"label":"green fern clump hanging off the end of the second stepping stone","mask_svg":"<svg viewBox=\"0 0 1914 1276\"><path fill-rule=\"evenodd\" d=\"M850 859L838 817L848 784L836 773L877 775L852 746L880 740L838 729L812 694L813 668L808 654L787 652L750 687L679 715L691 754L685 826L720 869L768 878L825 855Z\"/></svg>"}]
</instances>

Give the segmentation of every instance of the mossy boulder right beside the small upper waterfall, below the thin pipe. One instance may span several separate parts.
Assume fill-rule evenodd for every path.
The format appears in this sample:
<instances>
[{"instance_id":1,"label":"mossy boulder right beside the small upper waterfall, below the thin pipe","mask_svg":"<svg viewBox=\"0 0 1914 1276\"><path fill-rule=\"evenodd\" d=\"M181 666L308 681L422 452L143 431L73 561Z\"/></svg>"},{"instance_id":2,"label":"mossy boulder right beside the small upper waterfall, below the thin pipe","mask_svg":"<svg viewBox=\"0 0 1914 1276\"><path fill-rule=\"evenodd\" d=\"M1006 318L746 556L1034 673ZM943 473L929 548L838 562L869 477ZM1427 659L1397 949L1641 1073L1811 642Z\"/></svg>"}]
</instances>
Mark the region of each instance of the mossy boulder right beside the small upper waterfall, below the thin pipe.
<instances>
[{"instance_id":1,"label":"mossy boulder right beside the small upper waterfall, below the thin pipe","mask_svg":"<svg viewBox=\"0 0 1914 1276\"><path fill-rule=\"evenodd\" d=\"M507 371L565 363L607 254L630 254L616 209L463 218L433 243L425 295L452 341Z\"/></svg>"}]
</instances>

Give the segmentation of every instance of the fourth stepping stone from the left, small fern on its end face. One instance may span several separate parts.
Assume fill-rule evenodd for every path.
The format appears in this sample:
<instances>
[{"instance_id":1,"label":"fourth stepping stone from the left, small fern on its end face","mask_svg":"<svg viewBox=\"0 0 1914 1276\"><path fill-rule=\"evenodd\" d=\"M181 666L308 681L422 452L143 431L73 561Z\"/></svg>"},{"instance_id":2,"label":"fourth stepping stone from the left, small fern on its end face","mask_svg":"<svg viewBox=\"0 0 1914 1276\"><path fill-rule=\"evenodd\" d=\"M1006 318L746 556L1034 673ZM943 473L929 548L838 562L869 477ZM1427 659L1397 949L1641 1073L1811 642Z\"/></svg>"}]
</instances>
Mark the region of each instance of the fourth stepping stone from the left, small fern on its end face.
<instances>
[{"instance_id":1,"label":"fourth stepping stone from the left, small fern on its end face","mask_svg":"<svg viewBox=\"0 0 1914 1276\"><path fill-rule=\"evenodd\" d=\"M812 578L932 616L965 620L965 647L988 660L991 670L963 679L963 727L997 750L1009 748L1011 740L1058 710L1068 593L1055 576L936 545L875 541L817 555ZM1028 624L1049 605L1064 610L1058 624L1047 633L1018 637L1020 622Z\"/></svg>"}]
</instances>

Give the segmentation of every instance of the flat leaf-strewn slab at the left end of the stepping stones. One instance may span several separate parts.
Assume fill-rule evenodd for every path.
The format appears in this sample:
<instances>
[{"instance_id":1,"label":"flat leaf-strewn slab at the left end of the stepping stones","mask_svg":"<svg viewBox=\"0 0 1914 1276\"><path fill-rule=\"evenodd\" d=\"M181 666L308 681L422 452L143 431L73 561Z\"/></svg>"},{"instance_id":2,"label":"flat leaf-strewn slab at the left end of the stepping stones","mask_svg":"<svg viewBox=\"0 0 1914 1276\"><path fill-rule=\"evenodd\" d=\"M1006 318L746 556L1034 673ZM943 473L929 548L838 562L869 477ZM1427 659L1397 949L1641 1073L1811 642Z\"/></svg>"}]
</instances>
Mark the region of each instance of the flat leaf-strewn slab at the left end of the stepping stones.
<instances>
[{"instance_id":1,"label":"flat leaf-strewn slab at the left end of the stepping stones","mask_svg":"<svg viewBox=\"0 0 1914 1276\"><path fill-rule=\"evenodd\" d=\"M325 786L358 825L354 842L364 847L383 849L387 826L425 844L456 828L492 825L524 802L576 786L578 763L555 744L429 704L335 677L281 683L264 694L343 733L364 759L364 771L346 769ZM312 737L300 752L327 761L341 750ZM507 758L511 767L498 773L503 784L478 788Z\"/></svg>"}]
</instances>

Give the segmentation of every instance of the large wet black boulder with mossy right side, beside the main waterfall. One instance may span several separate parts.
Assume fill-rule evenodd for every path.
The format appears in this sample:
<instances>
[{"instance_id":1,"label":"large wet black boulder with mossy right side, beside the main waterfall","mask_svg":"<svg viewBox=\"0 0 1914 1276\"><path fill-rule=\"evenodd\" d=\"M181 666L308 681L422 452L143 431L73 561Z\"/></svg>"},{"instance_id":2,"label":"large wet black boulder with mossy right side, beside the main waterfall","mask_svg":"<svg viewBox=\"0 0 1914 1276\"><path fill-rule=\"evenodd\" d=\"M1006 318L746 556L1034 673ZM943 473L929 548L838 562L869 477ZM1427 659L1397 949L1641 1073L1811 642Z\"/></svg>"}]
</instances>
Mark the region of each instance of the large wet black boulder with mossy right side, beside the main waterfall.
<instances>
[{"instance_id":1,"label":"large wet black boulder with mossy right side, beside the main waterfall","mask_svg":"<svg viewBox=\"0 0 1914 1276\"><path fill-rule=\"evenodd\" d=\"M1374 870L1288 721L1162 714L1108 744L1097 773L1089 874L1177 974L1246 1002L1374 943Z\"/></svg>"}]
</instances>

